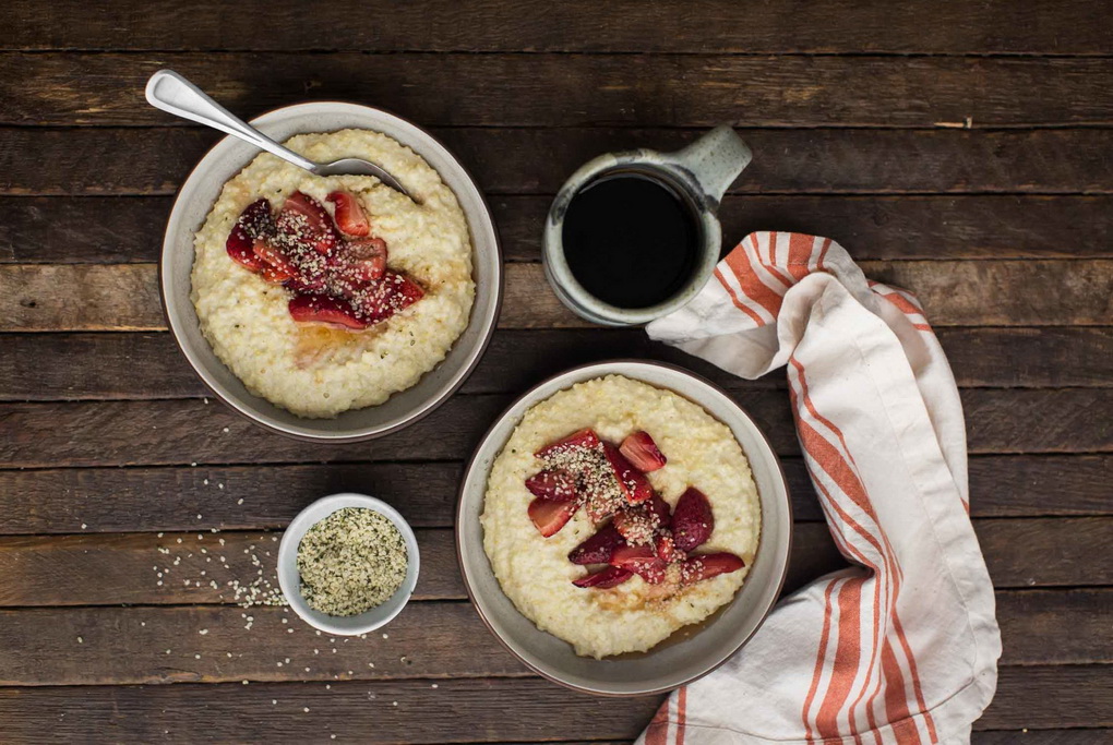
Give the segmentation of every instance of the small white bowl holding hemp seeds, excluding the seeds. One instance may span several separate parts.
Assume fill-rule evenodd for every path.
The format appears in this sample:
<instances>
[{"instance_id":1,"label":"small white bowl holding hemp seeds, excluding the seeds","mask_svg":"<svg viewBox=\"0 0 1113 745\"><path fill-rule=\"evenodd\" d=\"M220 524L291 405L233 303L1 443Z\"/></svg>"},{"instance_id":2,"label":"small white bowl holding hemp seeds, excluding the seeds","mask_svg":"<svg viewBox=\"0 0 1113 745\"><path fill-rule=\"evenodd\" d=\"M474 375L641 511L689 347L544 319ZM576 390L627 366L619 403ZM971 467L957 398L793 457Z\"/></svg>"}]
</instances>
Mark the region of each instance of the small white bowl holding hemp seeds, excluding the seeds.
<instances>
[{"instance_id":1,"label":"small white bowl holding hemp seeds, excluding the seeds","mask_svg":"<svg viewBox=\"0 0 1113 745\"><path fill-rule=\"evenodd\" d=\"M406 577L402 580L402 586L394 592L394 595L387 598L382 605L375 606L371 610L361 613L357 616L329 616L311 608L302 595L302 576L297 570L297 547L309 528L337 509L344 509L345 507L373 509L394 524L394 527L402 534L402 539L406 544ZM367 497L362 494L334 494L331 497L317 499L298 513L297 517L286 528L286 533L282 537L282 543L278 544L278 586L282 587L282 593L286 596L286 600L290 607L311 626L342 636L355 636L373 632L391 623L394 616L402 613L402 608L410 602L410 596L413 595L414 586L417 584L420 565L421 557L417 554L417 538L414 537L414 532L410 527L410 524L398 514L398 510L382 499Z\"/></svg>"}]
</instances>

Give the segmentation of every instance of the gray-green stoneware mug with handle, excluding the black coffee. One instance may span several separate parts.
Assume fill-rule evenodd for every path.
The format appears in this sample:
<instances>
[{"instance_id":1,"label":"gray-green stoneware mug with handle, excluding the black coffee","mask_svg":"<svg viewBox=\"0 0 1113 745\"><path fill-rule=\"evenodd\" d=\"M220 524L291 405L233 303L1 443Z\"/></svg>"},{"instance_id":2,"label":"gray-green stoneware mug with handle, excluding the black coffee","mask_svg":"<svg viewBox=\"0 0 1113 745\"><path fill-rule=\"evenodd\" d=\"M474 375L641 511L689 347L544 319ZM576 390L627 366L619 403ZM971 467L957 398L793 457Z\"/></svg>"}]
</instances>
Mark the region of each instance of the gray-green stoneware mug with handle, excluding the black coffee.
<instances>
[{"instance_id":1,"label":"gray-green stoneware mug with handle, excluding the black coffee","mask_svg":"<svg viewBox=\"0 0 1113 745\"><path fill-rule=\"evenodd\" d=\"M647 149L609 152L581 166L561 187L545 220L545 278L556 297L575 315L602 326L648 324L687 305L711 278L719 261L722 249L719 201L751 158L749 147L735 130L721 126L676 152ZM674 295L648 308L620 308L600 300L577 280L564 257L564 215L572 198L614 171L640 171L671 186L687 202L699 226L700 250L688 281Z\"/></svg>"}]
</instances>

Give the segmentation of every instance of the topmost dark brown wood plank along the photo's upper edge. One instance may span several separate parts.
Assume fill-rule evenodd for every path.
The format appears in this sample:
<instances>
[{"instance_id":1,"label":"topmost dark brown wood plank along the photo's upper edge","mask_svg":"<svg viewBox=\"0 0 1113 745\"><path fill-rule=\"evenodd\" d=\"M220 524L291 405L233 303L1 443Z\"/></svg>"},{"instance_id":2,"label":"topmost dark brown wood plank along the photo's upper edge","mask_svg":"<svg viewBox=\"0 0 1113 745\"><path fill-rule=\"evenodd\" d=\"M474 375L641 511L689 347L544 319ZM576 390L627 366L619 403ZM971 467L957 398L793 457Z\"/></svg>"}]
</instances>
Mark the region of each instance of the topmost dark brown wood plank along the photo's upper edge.
<instances>
[{"instance_id":1,"label":"topmost dark brown wood plank along the photo's upper edge","mask_svg":"<svg viewBox=\"0 0 1113 745\"><path fill-rule=\"evenodd\" d=\"M267 32L254 13L219 0L150 13L142 3L115 2L82 12L77 0L9 6L6 49L89 50L353 50L533 52L1048 53L1113 52L1101 6L1042 0L972 4L918 0L879 11L855 0L794 7L791 22L776 4L716 0L647 7L637 0L561 6L560 22L518 1L377 2L359 23L339 8L306 13L295 0L267 3ZM80 23L73 17L81 18ZM1002 23L1002 18L1008 18ZM388 20L384 20L388 19Z\"/></svg>"}]
</instances>

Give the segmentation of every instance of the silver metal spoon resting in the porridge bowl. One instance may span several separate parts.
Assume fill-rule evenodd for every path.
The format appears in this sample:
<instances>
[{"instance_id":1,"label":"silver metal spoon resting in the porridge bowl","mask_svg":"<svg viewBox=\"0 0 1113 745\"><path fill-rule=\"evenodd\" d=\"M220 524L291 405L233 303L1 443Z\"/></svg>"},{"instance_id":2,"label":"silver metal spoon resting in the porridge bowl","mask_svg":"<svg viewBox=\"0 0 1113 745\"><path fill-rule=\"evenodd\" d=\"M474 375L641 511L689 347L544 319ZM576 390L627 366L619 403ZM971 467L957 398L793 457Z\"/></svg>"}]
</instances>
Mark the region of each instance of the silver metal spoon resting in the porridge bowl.
<instances>
[{"instance_id":1,"label":"silver metal spoon resting in the porridge bowl","mask_svg":"<svg viewBox=\"0 0 1113 745\"><path fill-rule=\"evenodd\" d=\"M398 180L373 162L361 158L342 158L331 163L317 163L278 145L269 137L233 116L227 109L206 96L200 88L174 70L159 70L147 81L147 101L157 109L208 125L221 132L263 148L317 176L374 176L380 181L407 197Z\"/></svg>"}]
</instances>

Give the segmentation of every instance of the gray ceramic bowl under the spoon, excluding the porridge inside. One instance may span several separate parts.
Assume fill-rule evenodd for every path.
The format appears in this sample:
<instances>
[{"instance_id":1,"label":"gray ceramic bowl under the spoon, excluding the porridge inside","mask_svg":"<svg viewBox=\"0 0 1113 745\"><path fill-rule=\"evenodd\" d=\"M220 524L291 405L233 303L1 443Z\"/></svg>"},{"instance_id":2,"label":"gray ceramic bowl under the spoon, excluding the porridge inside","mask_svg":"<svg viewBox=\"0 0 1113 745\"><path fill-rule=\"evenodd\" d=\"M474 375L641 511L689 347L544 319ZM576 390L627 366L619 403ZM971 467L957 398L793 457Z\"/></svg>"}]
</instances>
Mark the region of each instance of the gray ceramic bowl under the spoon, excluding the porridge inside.
<instances>
[{"instance_id":1,"label":"gray ceramic bowl under the spoon, excluding the porridge inside","mask_svg":"<svg viewBox=\"0 0 1113 745\"><path fill-rule=\"evenodd\" d=\"M502 255L491 211L479 187L449 150L423 129L392 113L354 103L321 101L276 109L252 125L282 141L302 132L373 129L408 146L441 175L455 192L472 238L475 304L471 320L444 360L417 385L380 406L345 411L334 419L305 419L247 391L213 354L201 335L189 299L194 234L200 228L225 181L238 173L259 150L226 137L201 158L178 192L162 240L159 285L170 331L186 359L221 400L256 423L293 437L343 443L378 437L425 416L460 387L479 362L494 330L502 300Z\"/></svg>"}]
</instances>

